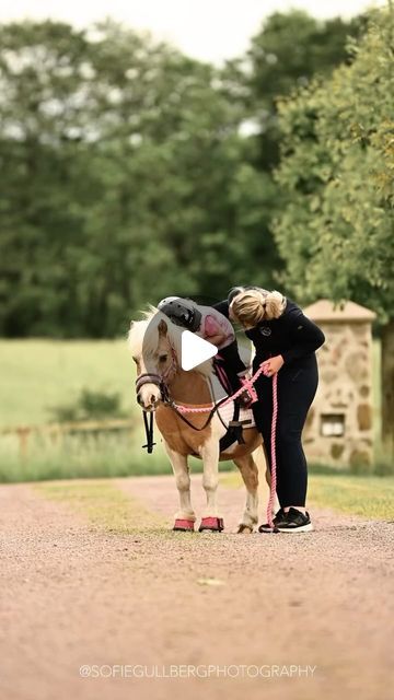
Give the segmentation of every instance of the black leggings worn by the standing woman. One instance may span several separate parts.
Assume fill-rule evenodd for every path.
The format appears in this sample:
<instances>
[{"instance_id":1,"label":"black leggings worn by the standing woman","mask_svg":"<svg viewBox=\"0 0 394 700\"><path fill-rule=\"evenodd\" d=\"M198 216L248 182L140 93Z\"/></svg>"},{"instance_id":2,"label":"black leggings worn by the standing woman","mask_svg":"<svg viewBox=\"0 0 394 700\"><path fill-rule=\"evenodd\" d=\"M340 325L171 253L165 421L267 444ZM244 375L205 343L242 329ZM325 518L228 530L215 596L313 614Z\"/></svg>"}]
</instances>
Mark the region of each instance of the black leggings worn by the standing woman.
<instances>
[{"instance_id":1,"label":"black leggings worn by the standing woman","mask_svg":"<svg viewBox=\"0 0 394 700\"><path fill-rule=\"evenodd\" d=\"M278 372L276 462L277 495L281 508L305 505L308 472L301 434L317 382L314 355L303 360L302 365L283 365ZM263 435L270 468L273 380L260 375L255 387L258 402L253 405L253 412L257 429Z\"/></svg>"}]
</instances>

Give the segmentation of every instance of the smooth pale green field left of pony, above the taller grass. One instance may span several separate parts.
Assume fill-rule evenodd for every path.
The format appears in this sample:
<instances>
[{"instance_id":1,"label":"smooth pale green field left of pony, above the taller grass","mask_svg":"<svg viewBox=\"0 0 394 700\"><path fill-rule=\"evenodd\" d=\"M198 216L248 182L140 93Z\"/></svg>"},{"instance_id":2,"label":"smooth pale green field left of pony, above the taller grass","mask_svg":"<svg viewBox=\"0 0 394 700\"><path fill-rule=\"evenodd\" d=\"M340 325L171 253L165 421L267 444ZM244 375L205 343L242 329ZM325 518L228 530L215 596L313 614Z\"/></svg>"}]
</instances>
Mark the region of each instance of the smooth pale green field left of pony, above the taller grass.
<instances>
[{"instance_id":1,"label":"smooth pale green field left of pony, above the taller grass","mask_svg":"<svg viewBox=\"0 0 394 700\"><path fill-rule=\"evenodd\" d=\"M124 340L0 340L0 427L46 423L84 388L119 394L136 411L135 369Z\"/></svg>"}]
</instances>

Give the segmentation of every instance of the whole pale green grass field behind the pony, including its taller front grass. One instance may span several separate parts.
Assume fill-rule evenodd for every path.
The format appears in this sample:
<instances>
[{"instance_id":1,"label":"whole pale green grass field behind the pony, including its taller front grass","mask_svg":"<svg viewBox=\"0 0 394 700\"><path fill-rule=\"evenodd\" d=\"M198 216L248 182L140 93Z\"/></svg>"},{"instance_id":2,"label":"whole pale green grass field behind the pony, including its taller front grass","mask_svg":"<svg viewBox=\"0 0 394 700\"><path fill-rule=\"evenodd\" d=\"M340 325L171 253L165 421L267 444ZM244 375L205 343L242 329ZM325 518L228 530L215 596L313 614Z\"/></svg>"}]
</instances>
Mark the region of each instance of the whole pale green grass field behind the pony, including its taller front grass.
<instances>
[{"instance_id":1,"label":"whole pale green grass field behind the pony, including its taller front grass","mask_svg":"<svg viewBox=\"0 0 394 700\"><path fill-rule=\"evenodd\" d=\"M42 425L54 408L72 405L83 389L118 394L123 413L134 421L129 432L78 438L54 443L32 435L20 454L15 435L0 435L0 481L113 477L171 471L160 444L147 455L141 412L135 400L135 368L126 339L0 340L0 429ZM374 418L380 428L380 345L374 343ZM160 435L157 434L160 443ZM221 469L229 468L223 464ZM387 471L383 464L381 471ZM194 470L201 464L195 460Z\"/></svg>"}]
</instances>

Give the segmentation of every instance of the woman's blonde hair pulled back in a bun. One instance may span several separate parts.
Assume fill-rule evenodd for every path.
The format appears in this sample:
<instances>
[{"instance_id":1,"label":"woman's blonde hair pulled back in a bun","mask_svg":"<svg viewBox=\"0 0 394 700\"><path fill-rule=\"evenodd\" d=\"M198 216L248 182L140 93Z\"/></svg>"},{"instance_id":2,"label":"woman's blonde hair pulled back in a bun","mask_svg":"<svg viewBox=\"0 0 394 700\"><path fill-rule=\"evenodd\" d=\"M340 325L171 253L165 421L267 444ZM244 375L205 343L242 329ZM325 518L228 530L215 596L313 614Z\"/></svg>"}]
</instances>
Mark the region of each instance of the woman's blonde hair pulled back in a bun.
<instances>
[{"instance_id":1,"label":"woman's blonde hair pulled back in a bun","mask_svg":"<svg viewBox=\"0 0 394 700\"><path fill-rule=\"evenodd\" d=\"M286 298L280 292L258 288L240 290L230 304L232 316L245 328L279 318L285 307Z\"/></svg>"}]
</instances>

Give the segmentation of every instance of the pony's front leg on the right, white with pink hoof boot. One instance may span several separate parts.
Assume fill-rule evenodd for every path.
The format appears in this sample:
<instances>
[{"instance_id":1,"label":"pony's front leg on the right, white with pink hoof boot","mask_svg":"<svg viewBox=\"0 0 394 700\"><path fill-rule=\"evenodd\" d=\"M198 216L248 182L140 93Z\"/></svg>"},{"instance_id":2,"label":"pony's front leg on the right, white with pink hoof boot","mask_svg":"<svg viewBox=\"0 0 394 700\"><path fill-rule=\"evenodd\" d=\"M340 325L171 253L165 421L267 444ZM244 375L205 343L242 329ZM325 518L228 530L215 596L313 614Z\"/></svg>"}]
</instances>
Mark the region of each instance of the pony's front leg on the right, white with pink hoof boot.
<instances>
[{"instance_id":1,"label":"pony's front leg on the right, white with pink hoof boot","mask_svg":"<svg viewBox=\"0 0 394 700\"><path fill-rule=\"evenodd\" d=\"M202 487L207 497L199 530L210 529L221 532L223 520L218 515L217 490L219 483L219 440L212 435L200 448L204 463Z\"/></svg>"}]
</instances>

